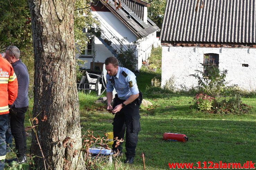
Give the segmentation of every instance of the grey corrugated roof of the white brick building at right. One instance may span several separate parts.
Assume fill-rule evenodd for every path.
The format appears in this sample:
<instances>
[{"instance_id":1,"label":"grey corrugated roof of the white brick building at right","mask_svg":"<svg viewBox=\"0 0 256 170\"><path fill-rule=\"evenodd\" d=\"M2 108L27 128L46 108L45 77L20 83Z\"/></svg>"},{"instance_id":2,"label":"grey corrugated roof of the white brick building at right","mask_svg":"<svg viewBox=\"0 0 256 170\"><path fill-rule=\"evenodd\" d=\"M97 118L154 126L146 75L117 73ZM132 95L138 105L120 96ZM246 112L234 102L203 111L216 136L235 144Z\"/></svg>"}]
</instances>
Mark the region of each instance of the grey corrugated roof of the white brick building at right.
<instances>
[{"instance_id":1,"label":"grey corrugated roof of the white brick building at right","mask_svg":"<svg viewBox=\"0 0 256 170\"><path fill-rule=\"evenodd\" d=\"M256 43L256 0L167 0L162 42Z\"/></svg>"}]
</instances>

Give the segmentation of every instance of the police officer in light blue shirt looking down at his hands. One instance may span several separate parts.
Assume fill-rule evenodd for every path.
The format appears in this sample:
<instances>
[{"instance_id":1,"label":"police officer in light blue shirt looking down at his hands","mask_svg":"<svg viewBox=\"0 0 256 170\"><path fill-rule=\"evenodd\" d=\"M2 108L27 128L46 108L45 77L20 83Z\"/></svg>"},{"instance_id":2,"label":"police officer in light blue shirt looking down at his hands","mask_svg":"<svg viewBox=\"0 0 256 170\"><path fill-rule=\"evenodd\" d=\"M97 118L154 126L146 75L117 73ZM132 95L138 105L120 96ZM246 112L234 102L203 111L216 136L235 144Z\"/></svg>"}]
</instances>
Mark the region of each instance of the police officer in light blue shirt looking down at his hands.
<instances>
[{"instance_id":1,"label":"police officer in light blue shirt looking down at his hands","mask_svg":"<svg viewBox=\"0 0 256 170\"><path fill-rule=\"evenodd\" d=\"M133 163L135 149L138 142L138 132L140 131L139 107L142 96L136 83L136 76L129 69L119 67L117 59L108 57L105 60L107 70L107 109L113 109L115 114L113 121L114 137L124 138L126 160L124 163ZM111 106L112 91L116 90L113 107ZM125 131L126 129L126 131ZM122 143L116 146L116 141L112 145L114 152L122 153Z\"/></svg>"}]
</instances>

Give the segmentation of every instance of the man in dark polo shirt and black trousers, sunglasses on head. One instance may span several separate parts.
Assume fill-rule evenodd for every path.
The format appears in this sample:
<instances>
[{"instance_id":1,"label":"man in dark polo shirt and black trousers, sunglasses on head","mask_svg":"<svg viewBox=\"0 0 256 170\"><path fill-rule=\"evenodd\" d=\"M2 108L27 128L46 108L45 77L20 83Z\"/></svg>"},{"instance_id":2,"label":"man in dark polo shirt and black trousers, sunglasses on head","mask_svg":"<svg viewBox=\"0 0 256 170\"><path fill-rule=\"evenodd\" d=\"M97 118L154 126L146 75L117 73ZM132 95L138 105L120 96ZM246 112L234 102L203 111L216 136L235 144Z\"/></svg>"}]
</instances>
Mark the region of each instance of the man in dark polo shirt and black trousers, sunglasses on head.
<instances>
[{"instance_id":1,"label":"man in dark polo shirt and black trousers, sunglasses on head","mask_svg":"<svg viewBox=\"0 0 256 170\"><path fill-rule=\"evenodd\" d=\"M11 134L15 140L15 146L18 150L17 158L11 159L8 162L16 161L18 163L26 162L26 132L24 128L25 113L28 109L28 70L21 60L20 51L16 46L6 48L5 58L11 63L18 80L18 96L10 107L10 124Z\"/></svg>"}]
</instances>

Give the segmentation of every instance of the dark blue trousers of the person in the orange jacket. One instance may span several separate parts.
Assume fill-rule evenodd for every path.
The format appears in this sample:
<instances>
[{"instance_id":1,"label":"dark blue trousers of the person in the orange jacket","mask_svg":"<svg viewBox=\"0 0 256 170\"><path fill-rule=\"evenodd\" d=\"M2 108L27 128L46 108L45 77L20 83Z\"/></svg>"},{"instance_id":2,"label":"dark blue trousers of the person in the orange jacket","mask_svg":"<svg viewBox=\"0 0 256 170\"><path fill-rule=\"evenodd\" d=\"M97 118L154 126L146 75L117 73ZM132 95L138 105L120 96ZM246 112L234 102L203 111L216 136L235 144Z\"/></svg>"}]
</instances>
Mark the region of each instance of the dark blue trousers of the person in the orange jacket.
<instances>
[{"instance_id":1,"label":"dark blue trousers of the person in the orange jacket","mask_svg":"<svg viewBox=\"0 0 256 170\"><path fill-rule=\"evenodd\" d=\"M9 114L0 114L0 170L5 168L6 142L5 133L8 128Z\"/></svg>"}]
</instances>

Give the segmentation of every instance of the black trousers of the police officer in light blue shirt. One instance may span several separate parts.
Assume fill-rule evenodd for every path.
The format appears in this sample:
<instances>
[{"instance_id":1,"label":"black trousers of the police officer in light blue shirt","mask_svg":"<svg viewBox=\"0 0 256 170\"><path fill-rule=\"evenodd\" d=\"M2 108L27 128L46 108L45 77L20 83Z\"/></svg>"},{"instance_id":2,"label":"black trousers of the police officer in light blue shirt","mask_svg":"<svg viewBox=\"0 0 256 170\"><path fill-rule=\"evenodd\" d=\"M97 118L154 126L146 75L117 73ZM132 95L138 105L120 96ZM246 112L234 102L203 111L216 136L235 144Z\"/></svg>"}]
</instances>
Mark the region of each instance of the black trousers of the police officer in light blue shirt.
<instances>
[{"instance_id":1,"label":"black trousers of the police officer in light blue shirt","mask_svg":"<svg viewBox=\"0 0 256 170\"><path fill-rule=\"evenodd\" d=\"M124 102L125 100L118 99L115 101L113 108ZM138 143L138 132L140 131L140 114L138 101L134 100L132 103L127 104L119 112L115 114L113 121L113 132L114 138L124 139L125 133L125 149L126 158L131 158L135 156L135 149ZM125 131L126 129L126 131ZM115 147L116 141L112 145L113 150L122 151L122 143Z\"/></svg>"}]
</instances>

